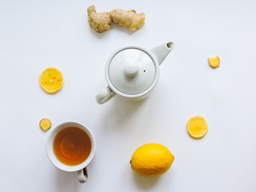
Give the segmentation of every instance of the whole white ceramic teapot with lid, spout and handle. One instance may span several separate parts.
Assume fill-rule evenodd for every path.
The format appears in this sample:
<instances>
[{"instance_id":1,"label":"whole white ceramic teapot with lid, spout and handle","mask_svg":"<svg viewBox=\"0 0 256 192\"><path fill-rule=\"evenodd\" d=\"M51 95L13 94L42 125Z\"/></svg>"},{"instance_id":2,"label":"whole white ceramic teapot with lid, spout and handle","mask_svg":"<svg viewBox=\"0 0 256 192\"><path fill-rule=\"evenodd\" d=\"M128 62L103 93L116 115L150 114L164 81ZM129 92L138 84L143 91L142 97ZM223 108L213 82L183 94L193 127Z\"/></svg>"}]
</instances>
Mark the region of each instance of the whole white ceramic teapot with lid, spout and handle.
<instances>
[{"instance_id":1,"label":"whole white ceramic teapot with lid, spout and handle","mask_svg":"<svg viewBox=\"0 0 256 192\"><path fill-rule=\"evenodd\" d=\"M158 82L160 64L173 48L174 42L167 42L152 50L126 46L115 51L106 62L108 86L96 96L98 104L109 101L116 94L131 101L146 98Z\"/></svg>"}]
</instances>

